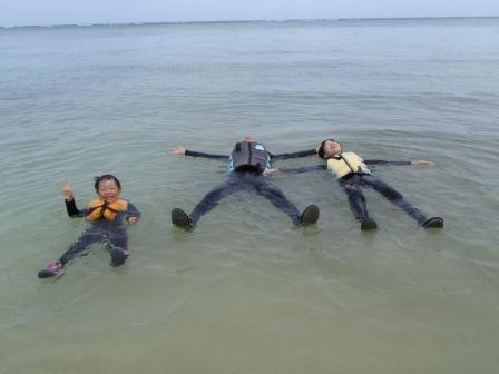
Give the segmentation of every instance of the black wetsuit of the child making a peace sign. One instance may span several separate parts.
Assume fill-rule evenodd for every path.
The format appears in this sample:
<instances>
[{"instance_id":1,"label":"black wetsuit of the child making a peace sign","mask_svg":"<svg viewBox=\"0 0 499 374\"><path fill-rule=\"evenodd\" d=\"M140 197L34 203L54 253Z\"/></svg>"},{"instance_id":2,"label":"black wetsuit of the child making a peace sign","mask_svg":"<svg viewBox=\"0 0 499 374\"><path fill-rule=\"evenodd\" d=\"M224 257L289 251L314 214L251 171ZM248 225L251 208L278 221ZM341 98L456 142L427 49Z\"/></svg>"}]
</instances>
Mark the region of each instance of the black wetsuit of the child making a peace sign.
<instances>
[{"instance_id":1,"label":"black wetsuit of the child making a peace sign","mask_svg":"<svg viewBox=\"0 0 499 374\"><path fill-rule=\"evenodd\" d=\"M86 217L91 213L88 208L79 210L75 199L66 201L66 209L69 217ZM65 265L96 242L104 242L109 250L112 248L128 249L128 235L123 222L128 220L130 217L140 218L140 211L131 203L128 203L128 209L118 211L115 219L99 218L91 222L91 227L87 228L78 240L66 250L59 259L60 263Z\"/></svg>"}]
</instances>

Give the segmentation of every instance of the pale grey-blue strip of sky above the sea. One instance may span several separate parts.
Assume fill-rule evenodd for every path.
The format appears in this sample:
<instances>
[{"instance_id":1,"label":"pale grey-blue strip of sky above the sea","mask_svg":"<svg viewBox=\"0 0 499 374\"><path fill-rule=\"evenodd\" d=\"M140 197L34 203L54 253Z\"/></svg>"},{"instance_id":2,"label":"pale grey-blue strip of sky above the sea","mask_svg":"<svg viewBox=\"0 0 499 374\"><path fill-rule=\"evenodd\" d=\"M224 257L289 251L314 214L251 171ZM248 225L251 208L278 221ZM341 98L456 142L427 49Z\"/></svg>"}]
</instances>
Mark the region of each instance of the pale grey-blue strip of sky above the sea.
<instances>
[{"instance_id":1,"label":"pale grey-blue strip of sky above the sea","mask_svg":"<svg viewBox=\"0 0 499 374\"><path fill-rule=\"evenodd\" d=\"M499 0L0 0L0 26L497 17Z\"/></svg>"}]
</instances>

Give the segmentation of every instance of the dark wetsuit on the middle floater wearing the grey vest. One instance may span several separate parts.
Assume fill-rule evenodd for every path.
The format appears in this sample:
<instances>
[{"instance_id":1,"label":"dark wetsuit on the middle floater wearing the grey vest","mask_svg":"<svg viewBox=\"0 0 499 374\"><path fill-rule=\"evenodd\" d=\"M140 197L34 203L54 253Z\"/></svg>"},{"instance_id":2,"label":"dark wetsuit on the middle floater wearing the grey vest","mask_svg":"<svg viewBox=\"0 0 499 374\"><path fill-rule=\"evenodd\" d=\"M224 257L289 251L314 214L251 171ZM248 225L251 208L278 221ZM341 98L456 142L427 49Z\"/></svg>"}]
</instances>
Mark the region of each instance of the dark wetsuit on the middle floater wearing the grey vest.
<instances>
[{"instance_id":1,"label":"dark wetsuit on the middle floater wearing the grey vest","mask_svg":"<svg viewBox=\"0 0 499 374\"><path fill-rule=\"evenodd\" d=\"M185 155L192 157L217 159L223 161L229 160L229 156L211 155L193 150L186 150ZM273 161L290 158L307 157L312 155L316 155L315 149L293 154L281 154L281 155L273 155L268 152L268 158L270 161ZM199 220L202 216L212 210L222 198L237 190L244 190L244 189L246 190L253 189L258 195L266 197L277 209L284 211L295 225L300 224L301 214L296 208L296 206L293 203L291 203L287 199L287 197L277 188L277 186L275 186L266 177L264 177L262 174L254 171L231 171L228 179L226 181L212 189L196 205L193 213L189 215L189 219L193 226L196 225L196 223Z\"/></svg>"}]
</instances>

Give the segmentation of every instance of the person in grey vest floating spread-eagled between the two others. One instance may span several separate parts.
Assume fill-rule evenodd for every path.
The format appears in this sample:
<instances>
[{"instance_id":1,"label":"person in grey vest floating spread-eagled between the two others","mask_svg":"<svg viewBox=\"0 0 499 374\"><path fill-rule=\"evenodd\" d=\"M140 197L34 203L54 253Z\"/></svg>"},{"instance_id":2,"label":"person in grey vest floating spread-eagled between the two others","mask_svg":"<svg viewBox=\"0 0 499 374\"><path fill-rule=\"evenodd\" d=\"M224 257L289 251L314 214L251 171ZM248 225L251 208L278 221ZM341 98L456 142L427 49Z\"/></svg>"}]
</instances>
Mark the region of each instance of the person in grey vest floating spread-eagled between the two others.
<instances>
[{"instance_id":1,"label":"person in grey vest floating spread-eagled between the two others","mask_svg":"<svg viewBox=\"0 0 499 374\"><path fill-rule=\"evenodd\" d=\"M186 230L194 229L199 218L212 210L222 198L237 190L248 188L254 189L258 195L266 197L277 209L284 211L295 225L315 224L319 219L317 206L310 205L302 214L300 214L296 206L286 198L277 186L266 178L268 175L276 171L276 169L272 168L273 160L312 156L316 154L315 149L293 154L273 155L268 152L261 142L257 142L253 137L247 136L234 146L231 156L187 150L182 146L172 148L169 152L172 155L223 160L227 163L227 169L231 171L228 179L212 189L196 205L190 215L187 215L180 208L172 210L172 222L177 227Z\"/></svg>"}]
</instances>

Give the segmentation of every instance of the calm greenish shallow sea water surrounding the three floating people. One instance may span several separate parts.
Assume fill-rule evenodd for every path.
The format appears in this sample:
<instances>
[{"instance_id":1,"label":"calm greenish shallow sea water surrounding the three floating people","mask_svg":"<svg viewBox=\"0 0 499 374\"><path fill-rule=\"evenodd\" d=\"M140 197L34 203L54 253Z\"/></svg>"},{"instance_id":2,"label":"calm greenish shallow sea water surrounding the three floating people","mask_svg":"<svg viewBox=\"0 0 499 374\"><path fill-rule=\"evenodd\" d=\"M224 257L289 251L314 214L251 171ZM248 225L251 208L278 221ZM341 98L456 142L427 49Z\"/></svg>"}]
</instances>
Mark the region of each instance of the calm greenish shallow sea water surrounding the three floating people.
<instances>
[{"instance_id":1,"label":"calm greenish shallow sea water surrounding the three floating people","mask_svg":"<svg viewBox=\"0 0 499 374\"><path fill-rule=\"evenodd\" d=\"M498 46L496 18L0 29L0 373L496 373ZM310 173L272 179L315 227L242 193L173 228L226 174L168 149L245 135L432 160L374 173L446 227L366 190L361 233ZM85 206L104 173L143 211L129 260L38 279L87 227L62 180Z\"/></svg>"}]
</instances>

